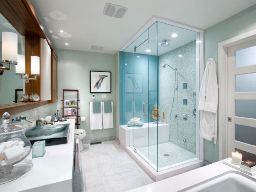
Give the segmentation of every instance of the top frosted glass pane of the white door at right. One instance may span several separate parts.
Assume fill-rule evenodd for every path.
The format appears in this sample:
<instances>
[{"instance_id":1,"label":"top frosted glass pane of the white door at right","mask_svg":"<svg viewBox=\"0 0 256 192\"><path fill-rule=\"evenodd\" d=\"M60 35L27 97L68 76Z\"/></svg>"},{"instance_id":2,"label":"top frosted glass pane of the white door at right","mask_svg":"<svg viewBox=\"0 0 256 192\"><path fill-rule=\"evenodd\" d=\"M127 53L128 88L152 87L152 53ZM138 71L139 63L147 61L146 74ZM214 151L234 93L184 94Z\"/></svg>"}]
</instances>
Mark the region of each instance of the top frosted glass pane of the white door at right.
<instances>
[{"instance_id":1,"label":"top frosted glass pane of the white door at right","mask_svg":"<svg viewBox=\"0 0 256 192\"><path fill-rule=\"evenodd\" d=\"M256 65L256 46L236 51L236 67Z\"/></svg>"}]
</instances>

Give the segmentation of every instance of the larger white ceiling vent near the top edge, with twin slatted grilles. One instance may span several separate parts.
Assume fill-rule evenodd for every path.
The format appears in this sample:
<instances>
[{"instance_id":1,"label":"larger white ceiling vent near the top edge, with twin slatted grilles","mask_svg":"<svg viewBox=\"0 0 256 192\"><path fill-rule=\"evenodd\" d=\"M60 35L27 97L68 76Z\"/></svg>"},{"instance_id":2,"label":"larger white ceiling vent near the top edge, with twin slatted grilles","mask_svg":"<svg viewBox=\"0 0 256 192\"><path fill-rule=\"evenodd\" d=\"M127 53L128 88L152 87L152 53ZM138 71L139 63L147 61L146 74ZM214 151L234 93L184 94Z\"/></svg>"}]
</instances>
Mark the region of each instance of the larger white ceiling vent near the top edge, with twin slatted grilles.
<instances>
[{"instance_id":1,"label":"larger white ceiling vent near the top edge, with twin slatted grilles","mask_svg":"<svg viewBox=\"0 0 256 192\"><path fill-rule=\"evenodd\" d=\"M108 15L110 17L116 17L121 19L126 14L127 10L128 9L126 7L112 3L106 3L103 14Z\"/></svg>"}]
</instances>

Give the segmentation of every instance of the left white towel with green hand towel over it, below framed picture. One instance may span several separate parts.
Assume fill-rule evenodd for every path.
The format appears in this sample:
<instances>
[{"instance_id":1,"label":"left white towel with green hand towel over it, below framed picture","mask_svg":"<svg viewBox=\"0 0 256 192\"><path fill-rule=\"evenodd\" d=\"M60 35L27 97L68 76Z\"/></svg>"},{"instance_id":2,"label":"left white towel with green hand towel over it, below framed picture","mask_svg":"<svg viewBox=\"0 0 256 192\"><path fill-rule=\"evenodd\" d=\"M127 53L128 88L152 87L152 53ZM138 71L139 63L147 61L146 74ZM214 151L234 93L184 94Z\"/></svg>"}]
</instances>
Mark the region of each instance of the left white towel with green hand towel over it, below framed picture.
<instances>
[{"instance_id":1,"label":"left white towel with green hand towel over it, below framed picture","mask_svg":"<svg viewBox=\"0 0 256 192\"><path fill-rule=\"evenodd\" d=\"M91 130L102 129L103 116L102 116L102 102L101 102L101 113L93 113L93 103L90 102L90 127Z\"/></svg>"}]
</instances>

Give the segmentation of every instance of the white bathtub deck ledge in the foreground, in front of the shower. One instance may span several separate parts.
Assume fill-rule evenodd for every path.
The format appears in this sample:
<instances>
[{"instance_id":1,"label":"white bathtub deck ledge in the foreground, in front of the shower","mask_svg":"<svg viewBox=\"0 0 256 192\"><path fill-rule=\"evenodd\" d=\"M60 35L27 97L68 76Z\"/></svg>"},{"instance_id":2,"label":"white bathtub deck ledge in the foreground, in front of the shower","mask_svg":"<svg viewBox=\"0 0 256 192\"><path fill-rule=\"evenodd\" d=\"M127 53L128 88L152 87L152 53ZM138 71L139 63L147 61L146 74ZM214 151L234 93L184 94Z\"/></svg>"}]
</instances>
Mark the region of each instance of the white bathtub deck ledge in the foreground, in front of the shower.
<instances>
[{"instance_id":1,"label":"white bathtub deck ledge in the foreground, in front of the shower","mask_svg":"<svg viewBox=\"0 0 256 192\"><path fill-rule=\"evenodd\" d=\"M238 171L233 167L225 165L222 163L222 161L218 161L213 164L167 178L165 180L151 183L143 187L138 187L128 192L177 192L232 170ZM256 175L254 178L256 178Z\"/></svg>"}]
</instances>

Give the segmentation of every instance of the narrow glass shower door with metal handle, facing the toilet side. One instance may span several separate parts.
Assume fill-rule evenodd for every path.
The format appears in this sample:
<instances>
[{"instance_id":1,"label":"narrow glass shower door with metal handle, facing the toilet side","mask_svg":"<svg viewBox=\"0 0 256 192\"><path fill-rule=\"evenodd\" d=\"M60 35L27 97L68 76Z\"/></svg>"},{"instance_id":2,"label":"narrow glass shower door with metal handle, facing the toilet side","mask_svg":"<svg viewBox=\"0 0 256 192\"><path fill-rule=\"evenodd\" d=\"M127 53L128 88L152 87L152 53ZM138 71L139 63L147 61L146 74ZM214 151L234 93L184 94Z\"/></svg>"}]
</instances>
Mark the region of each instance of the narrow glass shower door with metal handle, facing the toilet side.
<instances>
[{"instance_id":1,"label":"narrow glass shower door with metal handle, facing the toilet side","mask_svg":"<svg viewBox=\"0 0 256 192\"><path fill-rule=\"evenodd\" d=\"M133 117L140 118L143 126L133 127L133 146L135 152L148 161L148 31L133 42Z\"/></svg>"}]
</instances>

